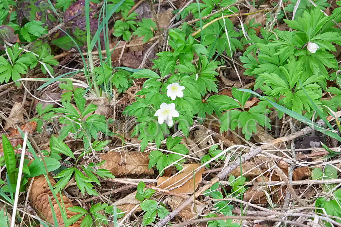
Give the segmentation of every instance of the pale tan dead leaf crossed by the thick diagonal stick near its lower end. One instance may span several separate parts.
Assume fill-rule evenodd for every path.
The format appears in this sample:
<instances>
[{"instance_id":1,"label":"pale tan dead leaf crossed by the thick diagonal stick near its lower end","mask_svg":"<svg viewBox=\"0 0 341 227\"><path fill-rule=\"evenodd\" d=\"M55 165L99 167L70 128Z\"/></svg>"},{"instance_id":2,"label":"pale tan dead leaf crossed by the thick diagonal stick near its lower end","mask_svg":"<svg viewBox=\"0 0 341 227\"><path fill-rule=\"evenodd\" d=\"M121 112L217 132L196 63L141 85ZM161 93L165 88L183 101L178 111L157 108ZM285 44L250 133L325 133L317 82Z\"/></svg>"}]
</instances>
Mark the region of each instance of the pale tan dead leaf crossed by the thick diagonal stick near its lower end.
<instances>
[{"instance_id":1,"label":"pale tan dead leaf crossed by the thick diagonal stick near its lower end","mask_svg":"<svg viewBox=\"0 0 341 227\"><path fill-rule=\"evenodd\" d=\"M167 198L167 201L170 209L174 211L179 205L181 205L184 199L177 196L170 196ZM186 206L183 210L179 212L179 214L183 219L182 221L186 222L201 214L205 207L205 205L196 205L195 203L193 203L192 205Z\"/></svg>"}]
</instances>

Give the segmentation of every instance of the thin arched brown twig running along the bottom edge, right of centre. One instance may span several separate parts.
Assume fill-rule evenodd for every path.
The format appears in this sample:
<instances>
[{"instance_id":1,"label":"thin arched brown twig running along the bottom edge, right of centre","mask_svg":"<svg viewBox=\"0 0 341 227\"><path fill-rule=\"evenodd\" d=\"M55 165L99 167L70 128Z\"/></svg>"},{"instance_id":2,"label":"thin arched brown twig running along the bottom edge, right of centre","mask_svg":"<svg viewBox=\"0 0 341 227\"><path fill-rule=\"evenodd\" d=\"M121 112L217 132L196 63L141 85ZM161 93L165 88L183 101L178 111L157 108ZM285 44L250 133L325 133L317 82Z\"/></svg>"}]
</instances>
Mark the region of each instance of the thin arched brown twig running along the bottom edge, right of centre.
<instances>
[{"instance_id":1,"label":"thin arched brown twig running along the bottom edge, right of centre","mask_svg":"<svg viewBox=\"0 0 341 227\"><path fill-rule=\"evenodd\" d=\"M299 227L309 227L308 225L290 221L282 218L276 218L276 217L262 217L262 216L218 216L218 217L207 217L207 218L201 218L201 219L195 219L188 222L181 222L177 225L172 225L172 227L182 227L185 225L190 225L194 223L200 223L200 222L208 222L208 221L215 221L215 220L226 220L226 219L234 219L234 220L264 220L264 221L271 221L271 222L284 222L288 223L294 226Z\"/></svg>"}]
</instances>

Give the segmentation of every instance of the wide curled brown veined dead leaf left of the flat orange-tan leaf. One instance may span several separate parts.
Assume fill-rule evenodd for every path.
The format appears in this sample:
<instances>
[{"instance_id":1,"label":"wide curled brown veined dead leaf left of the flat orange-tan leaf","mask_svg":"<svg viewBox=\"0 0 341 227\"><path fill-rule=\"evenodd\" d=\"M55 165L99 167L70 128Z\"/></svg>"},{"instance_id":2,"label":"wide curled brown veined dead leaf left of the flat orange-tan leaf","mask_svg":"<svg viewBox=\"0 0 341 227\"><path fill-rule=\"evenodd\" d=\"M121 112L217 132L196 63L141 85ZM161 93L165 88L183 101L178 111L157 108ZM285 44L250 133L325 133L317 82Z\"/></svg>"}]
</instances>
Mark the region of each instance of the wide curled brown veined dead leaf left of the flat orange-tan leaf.
<instances>
[{"instance_id":1,"label":"wide curled brown veined dead leaf left of the flat orange-tan leaf","mask_svg":"<svg viewBox=\"0 0 341 227\"><path fill-rule=\"evenodd\" d=\"M154 170L148 169L148 155L149 153L109 151L100 155L102 160L106 160L101 168L109 170L115 176L127 174L152 175Z\"/></svg>"}]
</instances>

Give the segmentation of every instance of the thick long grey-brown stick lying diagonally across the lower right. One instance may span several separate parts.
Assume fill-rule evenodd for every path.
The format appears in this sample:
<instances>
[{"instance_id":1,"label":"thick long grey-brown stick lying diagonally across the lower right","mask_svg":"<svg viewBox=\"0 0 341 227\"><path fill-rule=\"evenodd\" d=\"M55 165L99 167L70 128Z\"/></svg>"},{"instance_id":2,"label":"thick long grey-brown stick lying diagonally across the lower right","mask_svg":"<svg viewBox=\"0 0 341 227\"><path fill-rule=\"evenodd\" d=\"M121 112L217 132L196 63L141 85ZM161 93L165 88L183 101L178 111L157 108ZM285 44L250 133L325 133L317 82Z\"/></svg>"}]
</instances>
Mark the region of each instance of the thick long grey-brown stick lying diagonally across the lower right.
<instances>
[{"instance_id":1,"label":"thick long grey-brown stick lying diagonally across the lower right","mask_svg":"<svg viewBox=\"0 0 341 227\"><path fill-rule=\"evenodd\" d=\"M340 116L341 115L341 111L336 112L336 116ZM334 119L333 116L328 116L326 118L328 121ZM320 125L321 127L323 127L325 125L324 121L321 119L319 121L316 122L318 125ZM196 197L198 197L199 195L201 195L203 192L205 192L208 188L210 188L213 184L219 182L220 180L223 180L226 178L226 176L231 173L232 170L234 170L235 168L237 168L241 163L245 162L246 160L249 160L250 158L252 158L253 156L259 154L260 152L262 152L264 149L271 147L277 143L280 142L285 142L285 141L289 141L292 140L294 138L300 137L300 136L304 136L307 135L309 133L312 132L312 128L311 127L305 127L303 129L301 129L300 131L293 133L291 135L287 135L285 137L282 138L278 138L278 139L274 139L269 143L263 144L260 147L254 148L252 149L249 153L246 153L244 155L242 155L240 157L240 159L232 162L229 166L227 166L226 168L224 168L216 177L214 177L208 184L202 186L195 194L193 194L191 197L189 197L188 199L186 199L179 207L177 207L173 212L170 212L167 216L165 216L162 220L160 220L156 225L154 225L154 227L161 227L166 225L170 220L172 220L173 217L175 217L181 210L183 210L186 206L188 206ZM225 218L226 219L226 218Z\"/></svg>"}]
</instances>

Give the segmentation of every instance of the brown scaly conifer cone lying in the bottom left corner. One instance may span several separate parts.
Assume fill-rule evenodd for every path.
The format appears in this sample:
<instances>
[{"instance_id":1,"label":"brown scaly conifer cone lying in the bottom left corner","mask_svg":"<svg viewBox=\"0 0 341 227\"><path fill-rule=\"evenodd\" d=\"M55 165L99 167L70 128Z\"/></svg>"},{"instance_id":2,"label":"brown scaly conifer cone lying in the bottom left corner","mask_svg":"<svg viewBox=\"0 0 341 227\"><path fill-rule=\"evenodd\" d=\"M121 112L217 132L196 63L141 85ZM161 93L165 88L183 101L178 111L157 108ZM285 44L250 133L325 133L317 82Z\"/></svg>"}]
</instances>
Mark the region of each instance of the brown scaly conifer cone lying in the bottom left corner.
<instances>
[{"instance_id":1,"label":"brown scaly conifer cone lying in the bottom left corner","mask_svg":"<svg viewBox=\"0 0 341 227\"><path fill-rule=\"evenodd\" d=\"M56 184L56 181L52 176L49 175L48 179L52 186ZM27 183L27 186L26 186L27 189L30 185L31 180L32 179L29 179L29 182ZM31 191L30 191L30 194L28 195L28 198L31 201L31 207L33 207L33 209L37 212L40 218L42 218L43 220L46 220L50 224L54 224L52 210L50 207L50 202L48 200L48 197L51 198L54 212L57 216L58 226L64 227L64 221L63 221L61 212L59 210L59 206L57 205L57 202L53 197L53 194L46 182L44 175L34 177L34 180L31 186ZM63 193L62 193L62 196L60 196L59 193L57 194L57 199L60 203L61 203L61 197L64 203L62 206L65 207L66 216L68 218L76 214L79 214L79 213L75 213L75 212L68 210L68 208L73 207L73 205L72 205L72 202ZM81 220L83 220L83 218L81 218L75 224L70 225L70 226L79 227L81 224Z\"/></svg>"}]
</instances>

